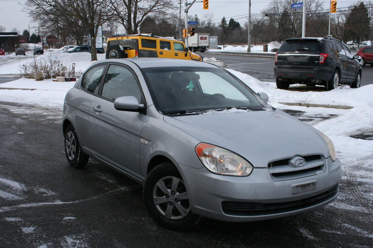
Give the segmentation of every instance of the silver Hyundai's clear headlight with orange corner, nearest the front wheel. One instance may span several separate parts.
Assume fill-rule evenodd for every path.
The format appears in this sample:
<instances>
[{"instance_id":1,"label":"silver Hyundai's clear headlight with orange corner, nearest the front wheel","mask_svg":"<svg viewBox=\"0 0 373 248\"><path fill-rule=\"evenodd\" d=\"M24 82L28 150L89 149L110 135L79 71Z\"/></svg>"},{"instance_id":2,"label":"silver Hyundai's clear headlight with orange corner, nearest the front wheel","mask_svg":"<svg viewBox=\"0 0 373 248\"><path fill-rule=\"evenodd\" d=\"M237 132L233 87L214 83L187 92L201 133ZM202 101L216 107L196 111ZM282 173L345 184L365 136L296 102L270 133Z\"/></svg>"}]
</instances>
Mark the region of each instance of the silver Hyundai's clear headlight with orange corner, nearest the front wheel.
<instances>
[{"instance_id":1,"label":"silver Hyundai's clear headlight with orange corner, nearest the front wheel","mask_svg":"<svg viewBox=\"0 0 373 248\"><path fill-rule=\"evenodd\" d=\"M195 152L202 164L216 174L247 176L253 170L253 165L244 158L219 146L200 143Z\"/></svg>"}]
</instances>

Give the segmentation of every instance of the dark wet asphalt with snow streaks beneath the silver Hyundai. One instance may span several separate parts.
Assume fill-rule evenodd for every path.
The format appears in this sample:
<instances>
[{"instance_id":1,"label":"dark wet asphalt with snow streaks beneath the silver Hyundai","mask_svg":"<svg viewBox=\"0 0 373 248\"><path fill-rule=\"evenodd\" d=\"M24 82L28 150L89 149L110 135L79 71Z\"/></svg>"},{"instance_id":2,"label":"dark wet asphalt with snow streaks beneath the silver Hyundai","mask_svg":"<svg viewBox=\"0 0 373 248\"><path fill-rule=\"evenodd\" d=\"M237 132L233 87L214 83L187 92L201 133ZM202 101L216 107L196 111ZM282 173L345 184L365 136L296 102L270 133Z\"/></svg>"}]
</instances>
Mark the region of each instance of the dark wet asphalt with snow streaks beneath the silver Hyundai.
<instances>
[{"instance_id":1,"label":"dark wet asphalt with snow streaks beneath the silver Hyundai","mask_svg":"<svg viewBox=\"0 0 373 248\"><path fill-rule=\"evenodd\" d=\"M340 198L353 206L365 203L361 207L337 200L339 207L329 204L286 218L202 219L192 230L173 232L148 216L134 181L95 160L84 169L68 165L61 115L60 108L0 102L0 247L372 246L372 206L353 177L363 173L361 167L340 184Z\"/></svg>"}]
</instances>

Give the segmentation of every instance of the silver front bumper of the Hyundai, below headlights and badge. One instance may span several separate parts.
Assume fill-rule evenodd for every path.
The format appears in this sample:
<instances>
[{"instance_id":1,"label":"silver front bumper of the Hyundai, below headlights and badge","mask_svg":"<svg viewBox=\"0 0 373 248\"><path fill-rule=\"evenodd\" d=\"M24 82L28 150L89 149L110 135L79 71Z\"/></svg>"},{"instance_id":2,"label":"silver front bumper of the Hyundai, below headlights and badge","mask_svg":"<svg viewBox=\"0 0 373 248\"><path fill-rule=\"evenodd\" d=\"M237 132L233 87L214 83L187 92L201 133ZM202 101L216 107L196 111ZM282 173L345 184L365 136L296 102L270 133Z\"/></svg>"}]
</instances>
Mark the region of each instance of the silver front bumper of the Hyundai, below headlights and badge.
<instances>
[{"instance_id":1,"label":"silver front bumper of the Hyundai, below headlights and badge","mask_svg":"<svg viewBox=\"0 0 373 248\"><path fill-rule=\"evenodd\" d=\"M330 158L325 159L325 162L326 169L322 173L282 181L274 181L268 168L254 168L247 177L232 177L212 174L204 167L195 169L180 164L176 166L190 193L189 202L193 213L228 222L250 222L298 214L334 201L342 175L341 162L338 159L332 162ZM314 181L317 182L316 189L292 193L293 185ZM260 209L260 206L264 206L264 209ZM250 211L235 212L230 211L229 207L231 210ZM256 210L273 211L253 212L253 207Z\"/></svg>"}]
</instances>

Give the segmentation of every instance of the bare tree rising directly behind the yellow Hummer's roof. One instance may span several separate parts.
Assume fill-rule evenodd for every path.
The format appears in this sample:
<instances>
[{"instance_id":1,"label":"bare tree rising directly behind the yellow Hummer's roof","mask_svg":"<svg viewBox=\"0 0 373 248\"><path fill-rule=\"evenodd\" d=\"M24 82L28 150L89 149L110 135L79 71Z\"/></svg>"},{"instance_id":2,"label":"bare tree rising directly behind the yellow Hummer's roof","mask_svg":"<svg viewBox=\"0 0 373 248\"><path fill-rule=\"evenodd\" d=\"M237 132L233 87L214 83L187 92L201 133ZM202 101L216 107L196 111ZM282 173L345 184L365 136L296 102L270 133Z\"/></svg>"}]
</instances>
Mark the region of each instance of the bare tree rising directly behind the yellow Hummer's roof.
<instances>
[{"instance_id":1,"label":"bare tree rising directly behind the yellow Hummer's roof","mask_svg":"<svg viewBox=\"0 0 373 248\"><path fill-rule=\"evenodd\" d=\"M127 34L136 34L148 15L165 15L175 8L172 0L110 0L112 13Z\"/></svg>"}]
</instances>

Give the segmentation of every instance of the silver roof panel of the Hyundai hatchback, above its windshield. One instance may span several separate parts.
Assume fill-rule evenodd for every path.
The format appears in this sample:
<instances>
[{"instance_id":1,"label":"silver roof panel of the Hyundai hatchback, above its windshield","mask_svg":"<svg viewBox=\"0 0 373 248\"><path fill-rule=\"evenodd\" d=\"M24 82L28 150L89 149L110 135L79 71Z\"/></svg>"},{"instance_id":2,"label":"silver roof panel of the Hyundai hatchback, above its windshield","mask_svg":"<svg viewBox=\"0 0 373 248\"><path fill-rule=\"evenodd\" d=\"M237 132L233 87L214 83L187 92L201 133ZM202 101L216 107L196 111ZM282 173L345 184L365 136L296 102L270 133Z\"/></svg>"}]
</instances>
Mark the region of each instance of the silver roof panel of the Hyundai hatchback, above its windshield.
<instances>
[{"instance_id":1,"label":"silver roof panel of the Hyundai hatchback, above its windshield","mask_svg":"<svg viewBox=\"0 0 373 248\"><path fill-rule=\"evenodd\" d=\"M122 59L107 59L107 62L123 62L123 60L131 61L137 64L140 68L152 67L209 67L220 68L214 64L204 63L196 60L181 60L175 58L122 58Z\"/></svg>"}]
</instances>

